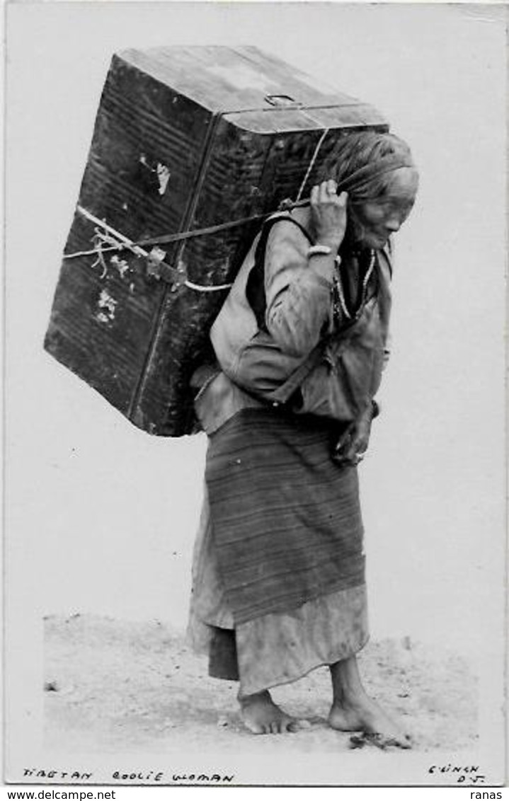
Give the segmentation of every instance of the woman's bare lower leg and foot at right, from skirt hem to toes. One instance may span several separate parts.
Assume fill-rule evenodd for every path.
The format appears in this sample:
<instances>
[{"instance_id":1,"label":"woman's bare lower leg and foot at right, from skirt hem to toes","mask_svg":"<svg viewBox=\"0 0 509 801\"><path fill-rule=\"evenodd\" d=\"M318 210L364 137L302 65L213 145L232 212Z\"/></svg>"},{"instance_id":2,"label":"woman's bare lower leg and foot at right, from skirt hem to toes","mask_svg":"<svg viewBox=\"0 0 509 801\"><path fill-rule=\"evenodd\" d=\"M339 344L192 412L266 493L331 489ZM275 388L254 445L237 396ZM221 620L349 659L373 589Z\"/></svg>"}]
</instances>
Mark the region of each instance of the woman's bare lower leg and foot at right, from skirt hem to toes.
<instances>
[{"instance_id":1,"label":"woman's bare lower leg and foot at right, from skirt hem to toes","mask_svg":"<svg viewBox=\"0 0 509 801\"><path fill-rule=\"evenodd\" d=\"M329 725L339 731L362 731L376 735L376 744L384 748L410 748L410 737L362 686L357 659L352 656L330 666L333 682L333 705Z\"/></svg>"}]
</instances>

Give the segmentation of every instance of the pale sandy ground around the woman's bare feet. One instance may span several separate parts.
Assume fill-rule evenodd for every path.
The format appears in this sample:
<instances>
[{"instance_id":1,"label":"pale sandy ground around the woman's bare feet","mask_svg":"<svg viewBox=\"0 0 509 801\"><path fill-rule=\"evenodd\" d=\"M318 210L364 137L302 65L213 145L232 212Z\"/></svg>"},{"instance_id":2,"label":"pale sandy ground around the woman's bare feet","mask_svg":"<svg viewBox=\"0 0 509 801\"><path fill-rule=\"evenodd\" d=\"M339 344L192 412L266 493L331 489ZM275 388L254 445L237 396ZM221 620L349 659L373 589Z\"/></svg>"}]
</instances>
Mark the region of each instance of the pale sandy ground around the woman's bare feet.
<instances>
[{"instance_id":1,"label":"pale sandy ground around the woman's bare feet","mask_svg":"<svg viewBox=\"0 0 509 801\"><path fill-rule=\"evenodd\" d=\"M366 647L361 668L370 693L406 722L414 749L474 744L476 681L463 658L430 653L409 638L387 639ZM307 718L309 728L256 737L240 723L235 685L208 678L206 659L158 621L46 618L44 680L49 748L156 754L178 745L270 755L349 748L349 735L325 723L325 668L273 691L291 714Z\"/></svg>"}]
</instances>

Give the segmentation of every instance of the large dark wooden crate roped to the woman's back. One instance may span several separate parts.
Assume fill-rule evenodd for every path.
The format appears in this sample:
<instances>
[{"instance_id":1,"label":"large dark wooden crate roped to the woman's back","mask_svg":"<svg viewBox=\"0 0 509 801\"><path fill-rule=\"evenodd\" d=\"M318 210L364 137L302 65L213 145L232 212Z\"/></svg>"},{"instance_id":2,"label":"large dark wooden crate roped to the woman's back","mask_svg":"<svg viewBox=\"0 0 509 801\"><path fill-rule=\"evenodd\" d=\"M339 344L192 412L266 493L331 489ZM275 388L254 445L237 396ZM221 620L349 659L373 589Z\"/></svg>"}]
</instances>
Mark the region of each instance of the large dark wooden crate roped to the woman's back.
<instances>
[{"instance_id":1,"label":"large dark wooden crate roped to the woman's back","mask_svg":"<svg viewBox=\"0 0 509 801\"><path fill-rule=\"evenodd\" d=\"M93 247L94 218L139 241L273 211L297 195L324 131L308 193L337 137L365 128L387 126L255 47L126 50L107 74L65 252ZM254 234L162 246L178 273L130 250L65 258L46 350L139 428L189 433L188 379L225 293L180 279L230 282Z\"/></svg>"}]
</instances>

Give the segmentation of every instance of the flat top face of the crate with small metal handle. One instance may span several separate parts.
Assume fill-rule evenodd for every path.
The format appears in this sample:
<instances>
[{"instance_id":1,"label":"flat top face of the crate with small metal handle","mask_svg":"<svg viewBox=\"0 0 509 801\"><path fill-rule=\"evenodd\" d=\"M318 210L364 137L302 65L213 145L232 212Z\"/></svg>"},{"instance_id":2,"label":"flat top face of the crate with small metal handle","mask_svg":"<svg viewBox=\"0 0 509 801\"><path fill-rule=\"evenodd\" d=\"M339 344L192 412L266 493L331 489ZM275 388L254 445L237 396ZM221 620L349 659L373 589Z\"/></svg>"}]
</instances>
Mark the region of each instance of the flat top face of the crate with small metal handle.
<instances>
[{"instance_id":1,"label":"flat top face of the crate with small metal handle","mask_svg":"<svg viewBox=\"0 0 509 801\"><path fill-rule=\"evenodd\" d=\"M116 58L213 114L228 115L232 123L258 133L386 123L374 107L254 46L129 49Z\"/></svg>"}]
</instances>

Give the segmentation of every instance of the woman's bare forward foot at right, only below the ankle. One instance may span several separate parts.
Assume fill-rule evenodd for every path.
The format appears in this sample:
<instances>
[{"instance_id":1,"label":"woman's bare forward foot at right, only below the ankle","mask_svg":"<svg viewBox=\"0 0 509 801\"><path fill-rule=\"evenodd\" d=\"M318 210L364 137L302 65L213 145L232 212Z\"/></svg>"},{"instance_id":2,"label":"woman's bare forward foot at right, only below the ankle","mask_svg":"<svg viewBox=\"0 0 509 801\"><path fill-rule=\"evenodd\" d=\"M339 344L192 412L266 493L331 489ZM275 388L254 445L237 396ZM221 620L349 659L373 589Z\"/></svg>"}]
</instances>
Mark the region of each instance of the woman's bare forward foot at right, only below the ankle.
<instances>
[{"instance_id":1,"label":"woman's bare forward foot at right, only below the ankle","mask_svg":"<svg viewBox=\"0 0 509 801\"><path fill-rule=\"evenodd\" d=\"M410 737L372 698L334 702L329 712L329 726L338 731L363 731L379 735L383 745L410 748Z\"/></svg>"}]
</instances>

